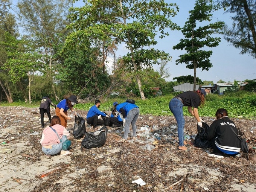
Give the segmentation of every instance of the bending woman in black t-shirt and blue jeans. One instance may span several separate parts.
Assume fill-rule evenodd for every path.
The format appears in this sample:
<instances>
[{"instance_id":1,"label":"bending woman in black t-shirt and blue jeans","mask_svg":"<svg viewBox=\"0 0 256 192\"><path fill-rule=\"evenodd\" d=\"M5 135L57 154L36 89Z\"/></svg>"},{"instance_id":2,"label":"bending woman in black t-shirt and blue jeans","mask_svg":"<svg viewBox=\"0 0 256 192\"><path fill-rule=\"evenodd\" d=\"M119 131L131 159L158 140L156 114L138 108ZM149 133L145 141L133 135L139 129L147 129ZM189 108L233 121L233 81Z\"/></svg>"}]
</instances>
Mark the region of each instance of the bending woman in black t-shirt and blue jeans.
<instances>
[{"instance_id":1,"label":"bending woman in black t-shirt and blue jeans","mask_svg":"<svg viewBox=\"0 0 256 192\"><path fill-rule=\"evenodd\" d=\"M183 115L183 107L187 107L189 113L197 119L197 124L202 126L202 119L199 117L198 107L204 104L205 96L206 91L204 89L198 89L197 91L186 91L178 94L169 102L169 109L174 114L178 124L178 149L187 150L186 146L184 145L185 119Z\"/></svg>"}]
</instances>

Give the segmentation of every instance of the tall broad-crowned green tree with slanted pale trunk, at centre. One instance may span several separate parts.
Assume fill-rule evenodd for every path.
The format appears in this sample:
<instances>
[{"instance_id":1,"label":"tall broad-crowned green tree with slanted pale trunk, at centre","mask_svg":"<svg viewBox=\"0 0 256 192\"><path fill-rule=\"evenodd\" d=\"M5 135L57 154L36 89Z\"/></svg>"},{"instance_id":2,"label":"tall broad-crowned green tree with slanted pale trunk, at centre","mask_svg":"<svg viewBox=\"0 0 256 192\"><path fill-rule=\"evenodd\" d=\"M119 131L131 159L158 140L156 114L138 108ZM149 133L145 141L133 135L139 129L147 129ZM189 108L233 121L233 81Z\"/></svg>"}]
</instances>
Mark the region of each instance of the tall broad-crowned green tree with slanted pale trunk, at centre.
<instances>
[{"instance_id":1,"label":"tall broad-crowned green tree with slanted pale trunk, at centre","mask_svg":"<svg viewBox=\"0 0 256 192\"><path fill-rule=\"evenodd\" d=\"M174 6L174 8L172 8ZM136 74L140 96L145 99L139 72L142 66L158 63L157 59L168 60L170 56L154 48L156 34L160 38L169 35L166 28L175 29L171 17L176 4L164 0L87 0L82 8L73 8L69 28L75 30L69 41L90 39L91 44L104 41L108 46L113 42L125 43L130 51L123 61L131 65Z\"/></svg>"}]
</instances>

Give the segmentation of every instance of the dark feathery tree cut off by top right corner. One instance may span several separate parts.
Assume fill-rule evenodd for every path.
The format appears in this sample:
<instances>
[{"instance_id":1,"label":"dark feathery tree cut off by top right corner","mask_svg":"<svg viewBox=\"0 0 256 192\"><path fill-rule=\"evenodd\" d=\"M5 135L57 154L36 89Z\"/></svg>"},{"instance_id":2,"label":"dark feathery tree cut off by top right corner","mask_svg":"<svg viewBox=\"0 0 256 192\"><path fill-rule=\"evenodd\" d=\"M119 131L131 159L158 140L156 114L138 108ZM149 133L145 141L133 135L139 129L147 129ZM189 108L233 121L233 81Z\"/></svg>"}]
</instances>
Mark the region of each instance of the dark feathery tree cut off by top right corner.
<instances>
[{"instance_id":1,"label":"dark feathery tree cut off by top right corner","mask_svg":"<svg viewBox=\"0 0 256 192\"><path fill-rule=\"evenodd\" d=\"M255 0L222 0L226 12L232 16L231 28L225 27L225 39L238 49L241 54L250 54L256 58L256 3Z\"/></svg>"}]
</instances>

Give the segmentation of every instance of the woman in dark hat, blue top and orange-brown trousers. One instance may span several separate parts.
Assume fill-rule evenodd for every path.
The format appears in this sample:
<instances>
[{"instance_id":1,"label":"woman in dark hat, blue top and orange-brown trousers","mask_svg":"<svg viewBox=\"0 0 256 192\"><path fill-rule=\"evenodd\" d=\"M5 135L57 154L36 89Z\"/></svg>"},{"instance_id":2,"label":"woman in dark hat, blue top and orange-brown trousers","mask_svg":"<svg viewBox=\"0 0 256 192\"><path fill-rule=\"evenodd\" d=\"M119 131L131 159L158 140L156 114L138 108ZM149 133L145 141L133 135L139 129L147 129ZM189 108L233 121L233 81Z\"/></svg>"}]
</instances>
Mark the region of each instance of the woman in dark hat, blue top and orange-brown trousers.
<instances>
[{"instance_id":1,"label":"woman in dark hat, blue top and orange-brown trousers","mask_svg":"<svg viewBox=\"0 0 256 192\"><path fill-rule=\"evenodd\" d=\"M78 103L76 100L77 100L77 96L75 95L71 95L69 98L66 97L61 102L58 103L55 109L56 116L59 117L59 119L61 120L61 125L64 126L65 128L67 127L67 120L71 119L69 116L67 116L67 110L70 109L72 112L75 112L73 110L73 107L75 104Z\"/></svg>"}]
</instances>

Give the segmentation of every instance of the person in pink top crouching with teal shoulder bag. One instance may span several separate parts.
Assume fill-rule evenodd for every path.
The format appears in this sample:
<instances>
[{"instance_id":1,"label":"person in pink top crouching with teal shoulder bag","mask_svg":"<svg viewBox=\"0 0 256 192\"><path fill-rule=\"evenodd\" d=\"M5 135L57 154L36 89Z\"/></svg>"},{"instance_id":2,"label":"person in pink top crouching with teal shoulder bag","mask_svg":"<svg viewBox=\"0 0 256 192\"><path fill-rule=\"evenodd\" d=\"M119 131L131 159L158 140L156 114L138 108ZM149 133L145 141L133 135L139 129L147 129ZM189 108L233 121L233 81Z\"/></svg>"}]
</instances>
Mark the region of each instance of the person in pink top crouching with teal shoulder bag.
<instances>
[{"instance_id":1,"label":"person in pink top crouching with teal shoulder bag","mask_svg":"<svg viewBox=\"0 0 256 192\"><path fill-rule=\"evenodd\" d=\"M69 131L66 130L64 126L60 124L61 124L61 120L59 119L59 117L53 116L50 126L47 126L43 131L40 143L42 145L42 151L46 155L56 155L59 152L61 152L62 156L70 154L69 151L62 150L62 143L59 140L59 137L60 137L61 141L65 142L67 139L69 139L70 133ZM56 130L59 137L50 127Z\"/></svg>"}]
</instances>

